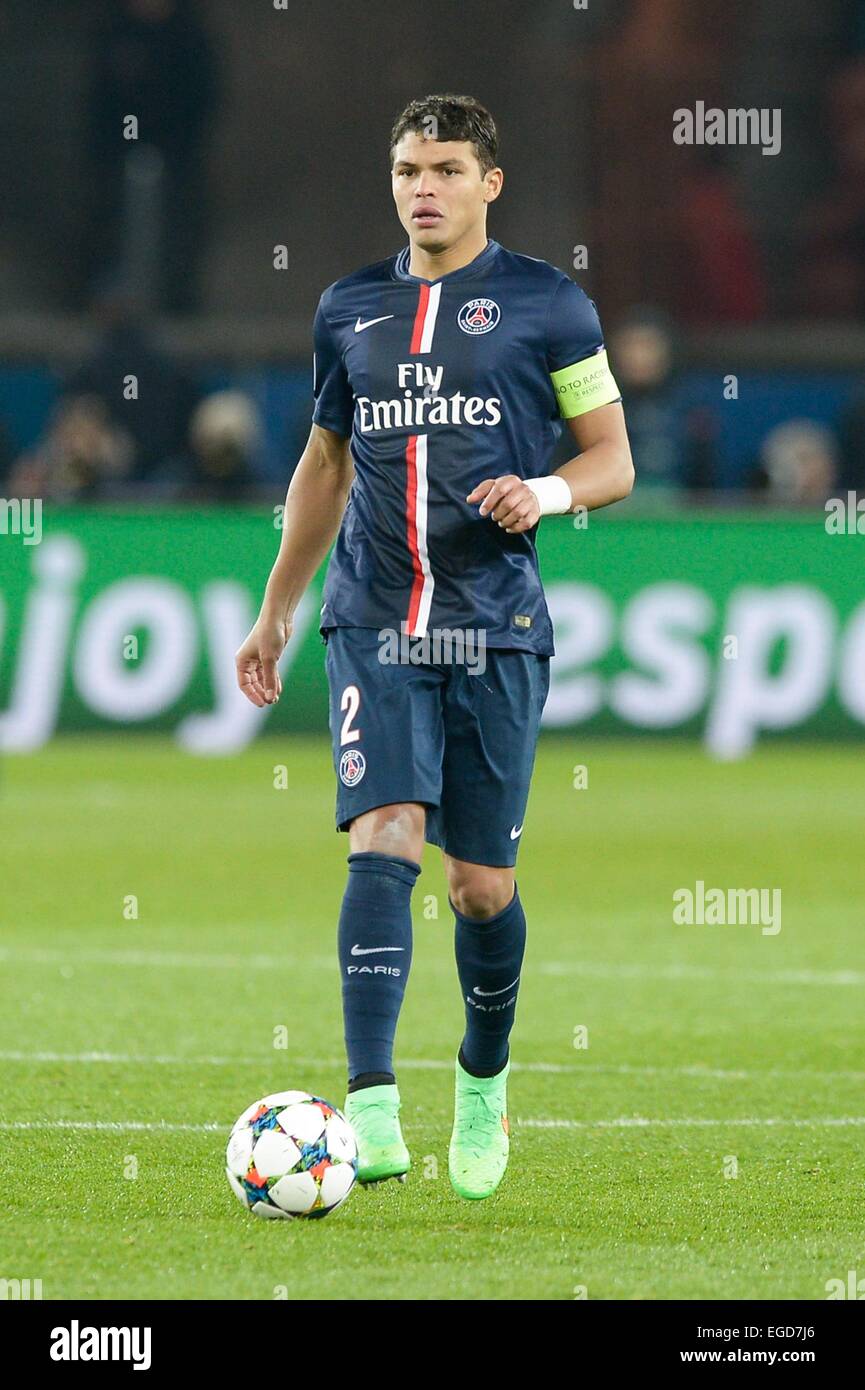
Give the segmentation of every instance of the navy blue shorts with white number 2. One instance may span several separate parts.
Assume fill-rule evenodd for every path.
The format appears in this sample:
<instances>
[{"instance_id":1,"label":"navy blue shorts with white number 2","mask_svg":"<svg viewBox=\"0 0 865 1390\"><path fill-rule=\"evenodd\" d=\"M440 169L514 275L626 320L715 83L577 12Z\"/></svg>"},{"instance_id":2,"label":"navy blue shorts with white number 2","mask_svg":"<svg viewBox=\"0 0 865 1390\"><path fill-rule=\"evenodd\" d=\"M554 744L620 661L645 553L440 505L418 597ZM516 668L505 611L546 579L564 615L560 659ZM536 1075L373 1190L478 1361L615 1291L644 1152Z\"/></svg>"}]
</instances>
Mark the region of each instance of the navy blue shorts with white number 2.
<instances>
[{"instance_id":1,"label":"navy blue shorts with white number 2","mask_svg":"<svg viewBox=\"0 0 865 1390\"><path fill-rule=\"evenodd\" d=\"M375 628L332 627L324 639L337 830L375 806L421 802L430 844L515 865L549 657L490 648L473 674L464 662L382 664Z\"/></svg>"}]
</instances>

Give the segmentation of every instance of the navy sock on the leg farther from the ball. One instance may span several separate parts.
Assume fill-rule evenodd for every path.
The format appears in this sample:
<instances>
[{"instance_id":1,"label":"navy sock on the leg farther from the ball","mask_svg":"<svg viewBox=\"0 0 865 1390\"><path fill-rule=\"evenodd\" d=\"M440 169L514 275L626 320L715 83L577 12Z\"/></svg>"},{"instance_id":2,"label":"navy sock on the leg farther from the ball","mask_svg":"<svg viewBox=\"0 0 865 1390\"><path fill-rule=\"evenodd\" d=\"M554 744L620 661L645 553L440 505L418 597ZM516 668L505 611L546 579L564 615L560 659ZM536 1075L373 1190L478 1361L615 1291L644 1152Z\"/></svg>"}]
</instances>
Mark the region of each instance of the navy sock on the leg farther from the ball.
<instances>
[{"instance_id":1,"label":"navy sock on the leg farther from the ball","mask_svg":"<svg viewBox=\"0 0 865 1390\"><path fill-rule=\"evenodd\" d=\"M456 969L466 1005L460 1066L474 1076L495 1076L508 1061L526 951L523 903L515 884L513 898L495 917L464 917L456 908L453 916Z\"/></svg>"}]
</instances>

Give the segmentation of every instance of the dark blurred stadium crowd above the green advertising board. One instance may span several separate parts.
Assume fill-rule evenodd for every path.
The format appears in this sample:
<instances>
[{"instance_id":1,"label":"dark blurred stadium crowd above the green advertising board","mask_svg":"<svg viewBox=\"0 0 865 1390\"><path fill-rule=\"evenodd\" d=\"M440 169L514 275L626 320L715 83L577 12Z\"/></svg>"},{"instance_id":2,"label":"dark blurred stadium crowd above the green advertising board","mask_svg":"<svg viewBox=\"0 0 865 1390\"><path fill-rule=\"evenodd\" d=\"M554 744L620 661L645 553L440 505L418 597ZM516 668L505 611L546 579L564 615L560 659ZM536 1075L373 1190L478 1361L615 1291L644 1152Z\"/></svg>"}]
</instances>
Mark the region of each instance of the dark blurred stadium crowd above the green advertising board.
<instances>
[{"instance_id":1,"label":"dark blurred stadium crowd above the green advertising board","mask_svg":"<svg viewBox=\"0 0 865 1390\"><path fill-rule=\"evenodd\" d=\"M463 15L466 53L410 60L375 90L369 60L394 54L392 7L371 0L363 33L356 6L328 8L335 33L355 24L355 50L334 57L325 97L320 24L299 13L54 0L39 21L13 0L0 17L17 103L0 136L0 493L280 491L309 428L317 295L398 249L389 120L435 83L476 90L502 126L510 202L492 235L565 268L587 247L574 278L605 322L634 503L822 505L865 488L865 0L591 0L583 13L442 0L439 21ZM424 6L401 7L401 49L428 22ZM509 76L517 54L523 83ZM338 93L352 60L349 121ZM47 86L40 125L26 78L53 72L70 120L51 143ZM268 82L271 104L256 106ZM676 146L672 113L697 100L779 107L782 152ZM339 215L346 196L362 215ZM281 242L293 272L274 291Z\"/></svg>"}]
</instances>

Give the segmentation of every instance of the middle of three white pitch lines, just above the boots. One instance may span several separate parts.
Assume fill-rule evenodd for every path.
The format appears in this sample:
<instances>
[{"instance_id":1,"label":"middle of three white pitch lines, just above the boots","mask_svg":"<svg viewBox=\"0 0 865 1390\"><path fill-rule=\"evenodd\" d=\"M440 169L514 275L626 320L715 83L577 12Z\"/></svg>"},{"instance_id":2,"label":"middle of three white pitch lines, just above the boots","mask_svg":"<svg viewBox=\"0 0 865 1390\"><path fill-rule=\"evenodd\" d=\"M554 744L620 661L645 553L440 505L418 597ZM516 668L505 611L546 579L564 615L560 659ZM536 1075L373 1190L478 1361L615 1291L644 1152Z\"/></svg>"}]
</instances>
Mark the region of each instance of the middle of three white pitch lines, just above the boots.
<instances>
[{"instance_id":1,"label":"middle of three white pitch lines, just above the boots","mask_svg":"<svg viewBox=\"0 0 865 1390\"><path fill-rule=\"evenodd\" d=\"M93 1066L93 1065L108 1065L108 1066L243 1066L249 1068L250 1063L264 1066L275 1059L273 1056L250 1056L249 1052L236 1056L216 1056L216 1055L196 1055L196 1056L181 1056L181 1055L165 1055L154 1054L145 1055L136 1052L26 1052L26 1051L0 1051L0 1062L25 1062L25 1063L63 1063L71 1066ZM345 1068L345 1059L337 1056L292 1056L291 1063L293 1068L328 1068L328 1069L342 1069ZM401 1070L413 1072L451 1072L453 1063L442 1058L403 1058L399 1062ZM865 1070L832 1070L820 1072L814 1068L765 1068L757 1070L731 1070L725 1068L712 1066L631 1066L629 1063L622 1065L604 1065L601 1062L580 1062L576 1066L565 1066L560 1062L512 1062L512 1072L534 1072L534 1073L549 1073L552 1076L572 1076L577 1079L581 1073L588 1072L591 1076L679 1076L691 1077L694 1080L709 1080L709 1081L761 1081L770 1080L773 1077L790 1077L793 1080L800 1080L804 1077L819 1079L825 1081L865 1081Z\"/></svg>"}]
</instances>

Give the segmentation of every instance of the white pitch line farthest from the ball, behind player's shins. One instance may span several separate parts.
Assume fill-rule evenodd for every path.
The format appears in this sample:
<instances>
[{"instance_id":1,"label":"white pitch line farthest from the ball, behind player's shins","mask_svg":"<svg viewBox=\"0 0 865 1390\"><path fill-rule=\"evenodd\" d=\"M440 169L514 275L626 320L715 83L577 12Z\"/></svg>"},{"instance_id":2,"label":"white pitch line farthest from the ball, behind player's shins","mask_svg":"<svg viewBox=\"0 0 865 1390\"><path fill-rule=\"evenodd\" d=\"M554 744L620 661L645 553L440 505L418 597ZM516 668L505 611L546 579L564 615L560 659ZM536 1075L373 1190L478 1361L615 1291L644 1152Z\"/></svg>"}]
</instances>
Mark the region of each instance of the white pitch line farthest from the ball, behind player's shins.
<instances>
[{"instance_id":1,"label":"white pitch line farthest from the ball, behind player's shins","mask_svg":"<svg viewBox=\"0 0 865 1390\"><path fill-rule=\"evenodd\" d=\"M314 967L332 970L337 955L268 955L254 952L241 955L234 952L186 952L186 951L114 951L114 949L70 949L58 951L49 947L0 947L0 965L18 962L22 965L111 965L143 969L191 969L191 970L288 970ZM435 973L451 970L444 962L426 962L424 970L432 965ZM862 970L745 970L737 966L668 965L642 966L626 963L605 963L598 960L540 960L533 966L537 974L553 977L588 976L599 980L668 980L670 983L691 980L719 980L744 984L807 984L807 986L865 986Z\"/></svg>"}]
</instances>

